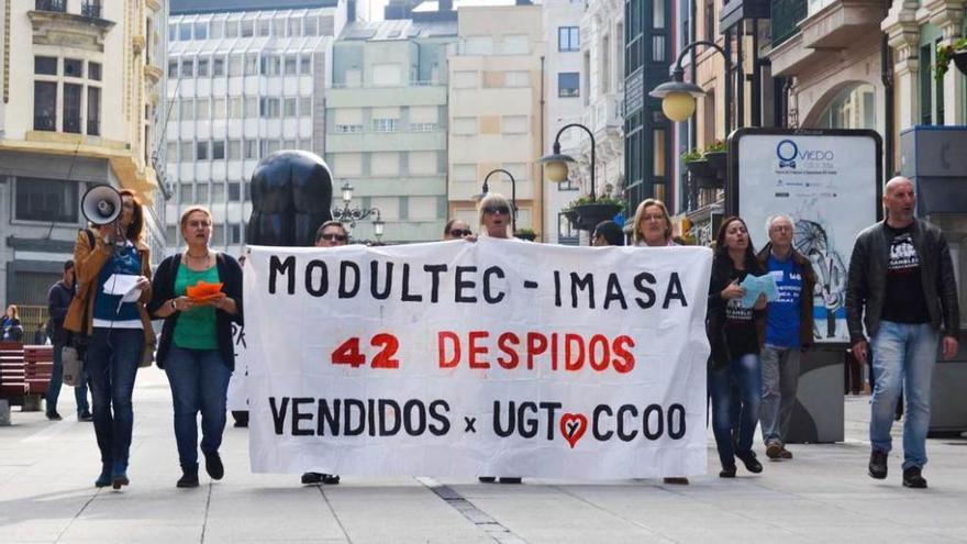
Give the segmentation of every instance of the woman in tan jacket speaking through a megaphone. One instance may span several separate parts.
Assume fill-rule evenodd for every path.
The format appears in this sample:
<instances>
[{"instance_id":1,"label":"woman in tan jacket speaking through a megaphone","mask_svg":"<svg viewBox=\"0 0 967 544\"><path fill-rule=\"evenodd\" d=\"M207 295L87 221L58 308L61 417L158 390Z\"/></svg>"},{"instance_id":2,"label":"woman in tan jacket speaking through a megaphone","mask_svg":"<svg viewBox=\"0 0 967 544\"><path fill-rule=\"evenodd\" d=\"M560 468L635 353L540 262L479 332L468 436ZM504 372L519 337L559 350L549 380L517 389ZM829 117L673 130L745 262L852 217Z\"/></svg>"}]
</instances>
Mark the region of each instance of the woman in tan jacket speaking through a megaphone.
<instances>
[{"instance_id":1,"label":"woman in tan jacket speaking through a megaphone","mask_svg":"<svg viewBox=\"0 0 967 544\"><path fill-rule=\"evenodd\" d=\"M81 201L90 229L74 246L77 296L64 327L89 336L85 370L93 400L93 423L101 451L97 487L126 486L134 423L134 377L155 343L146 304L151 300L149 248L142 240L144 212L136 195L104 186ZM124 287L132 286L126 292Z\"/></svg>"}]
</instances>

